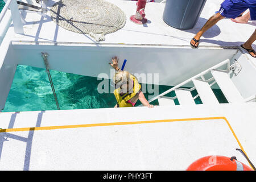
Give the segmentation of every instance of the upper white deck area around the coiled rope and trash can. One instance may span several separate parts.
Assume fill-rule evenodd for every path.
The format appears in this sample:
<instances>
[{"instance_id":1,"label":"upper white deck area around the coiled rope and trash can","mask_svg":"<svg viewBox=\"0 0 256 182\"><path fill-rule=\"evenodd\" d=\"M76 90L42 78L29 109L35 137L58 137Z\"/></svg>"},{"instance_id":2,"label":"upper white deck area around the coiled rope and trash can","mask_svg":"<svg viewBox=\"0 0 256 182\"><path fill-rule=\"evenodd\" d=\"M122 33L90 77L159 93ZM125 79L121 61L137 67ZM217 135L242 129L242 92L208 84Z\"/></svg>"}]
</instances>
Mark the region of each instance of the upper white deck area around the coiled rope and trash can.
<instances>
[{"instance_id":1,"label":"upper white deck area around the coiled rope and trash can","mask_svg":"<svg viewBox=\"0 0 256 182\"><path fill-rule=\"evenodd\" d=\"M55 0L56 1L56 0ZM200 30L208 18L218 11L221 0L208 0L200 15L196 26L191 30L178 30L168 26L163 21L164 3L147 3L147 24L138 25L130 21L130 16L135 14L136 2L107 0L120 7L126 14L126 24L121 30L107 34L106 40L101 43L123 44L160 44L190 46L189 42ZM53 4L54 1L49 1ZM77 34L65 30L52 22L50 16L43 18L36 13L27 13L25 35L16 35L13 40L43 41L43 42L70 42L70 43L95 43L88 35ZM255 22L247 24L234 23L224 19L205 32L200 46L240 46L255 30ZM254 48L255 45L254 45Z\"/></svg>"}]
</instances>

